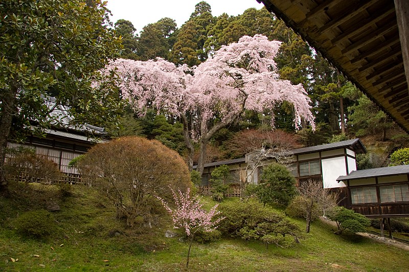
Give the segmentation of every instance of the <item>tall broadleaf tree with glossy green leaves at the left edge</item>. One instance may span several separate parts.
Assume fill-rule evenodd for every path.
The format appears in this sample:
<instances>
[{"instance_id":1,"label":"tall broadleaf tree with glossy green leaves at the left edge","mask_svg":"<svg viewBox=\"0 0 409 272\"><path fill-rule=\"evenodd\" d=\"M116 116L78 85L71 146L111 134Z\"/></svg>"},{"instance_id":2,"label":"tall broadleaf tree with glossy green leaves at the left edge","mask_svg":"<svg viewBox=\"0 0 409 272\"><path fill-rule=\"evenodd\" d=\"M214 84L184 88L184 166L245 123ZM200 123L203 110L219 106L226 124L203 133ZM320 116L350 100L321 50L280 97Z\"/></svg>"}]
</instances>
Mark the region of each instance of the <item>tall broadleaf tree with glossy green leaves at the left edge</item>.
<instances>
[{"instance_id":1,"label":"tall broadleaf tree with glossy green leaves at the left edge","mask_svg":"<svg viewBox=\"0 0 409 272\"><path fill-rule=\"evenodd\" d=\"M86 2L86 3L85 3ZM10 132L50 125L50 111L70 105L78 122L116 120L115 88L93 87L96 73L120 52L101 0L8 0L0 3L0 187ZM107 75L109 76L109 75ZM48 107L44 97L54 97ZM101 117L103 116L103 118ZM58 119L54 120L58 122Z\"/></svg>"}]
</instances>

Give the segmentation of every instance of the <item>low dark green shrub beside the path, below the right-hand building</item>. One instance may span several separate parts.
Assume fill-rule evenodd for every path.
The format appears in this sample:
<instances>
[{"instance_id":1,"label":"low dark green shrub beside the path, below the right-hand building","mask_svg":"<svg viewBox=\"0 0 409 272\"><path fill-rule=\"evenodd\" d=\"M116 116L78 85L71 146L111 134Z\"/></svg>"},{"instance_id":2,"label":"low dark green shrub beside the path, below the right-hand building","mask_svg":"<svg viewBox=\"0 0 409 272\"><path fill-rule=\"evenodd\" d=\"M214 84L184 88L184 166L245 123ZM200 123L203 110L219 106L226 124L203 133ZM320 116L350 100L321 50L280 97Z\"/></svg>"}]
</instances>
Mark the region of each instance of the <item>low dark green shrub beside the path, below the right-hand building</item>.
<instances>
[{"instance_id":1,"label":"low dark green shrub beside the path, below the right-hand building","mask_svg":"<svg viewBox=\"0 0 409 272\"><path fill-rule=\"evenodd\" d=\"M336 234L342 234L343 231L362 232L371 225L371 221L367 217L345 207L334 207L327 213L327 216L336 222Z\"/></svg>"}]
</instances>

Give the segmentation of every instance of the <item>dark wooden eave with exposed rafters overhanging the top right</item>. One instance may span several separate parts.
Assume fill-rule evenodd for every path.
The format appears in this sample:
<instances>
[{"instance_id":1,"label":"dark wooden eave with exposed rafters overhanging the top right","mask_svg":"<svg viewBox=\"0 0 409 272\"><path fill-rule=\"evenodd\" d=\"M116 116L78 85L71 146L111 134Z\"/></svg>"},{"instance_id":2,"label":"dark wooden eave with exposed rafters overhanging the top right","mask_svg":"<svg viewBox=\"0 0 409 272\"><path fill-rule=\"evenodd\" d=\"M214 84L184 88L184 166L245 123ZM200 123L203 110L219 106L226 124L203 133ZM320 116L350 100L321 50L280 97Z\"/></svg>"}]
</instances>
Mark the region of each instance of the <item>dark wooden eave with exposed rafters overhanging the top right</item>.
<instances>
[{"instance_id":1,"label":"dark wooden eave with exposed rafters overhanging the top right","mask_svg":"<svg viewBox=\"0 0 409 272\"><path fill-rule=\"evenodd\" d=\"M402 52L394 1L257 1L409 132L408 50Z\"/></svg>"}]
</instances>

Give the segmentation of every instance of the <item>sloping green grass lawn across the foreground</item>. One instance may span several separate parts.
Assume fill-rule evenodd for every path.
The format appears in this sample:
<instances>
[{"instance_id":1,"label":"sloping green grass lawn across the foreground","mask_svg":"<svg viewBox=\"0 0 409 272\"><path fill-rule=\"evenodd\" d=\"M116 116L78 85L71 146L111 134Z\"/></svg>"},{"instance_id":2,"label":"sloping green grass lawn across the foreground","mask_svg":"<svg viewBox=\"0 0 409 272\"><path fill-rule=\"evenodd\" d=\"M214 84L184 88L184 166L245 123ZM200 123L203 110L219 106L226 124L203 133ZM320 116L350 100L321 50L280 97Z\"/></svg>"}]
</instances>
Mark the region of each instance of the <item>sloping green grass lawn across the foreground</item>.
<instances>
[{"instance_id":1,"label":"sloping green grass lawn across the foreground","mask_svg":"<svg viewBox=\"0 0 409 272\"><path fill-rule=\"evenodd\" d=\"M233 238L194 243L186 269L188 244L164 236L170 229L168 220L151 230L130 230L115 218L107 199L86 187L75 187L71 196L58 200L61 211L54 213L55 234L42 240L19 236L13 218L43 207L44 199L0 199L0 271L405 271L409 267L407 251L356 235L334 235L331 227L315 221L311 234L287 249ZM206 207L214 205L206 198L203 202ZM297 222L304 228L304 221ZM112 230L122 235L110 237Z\"/></svg>"}]
</instances>

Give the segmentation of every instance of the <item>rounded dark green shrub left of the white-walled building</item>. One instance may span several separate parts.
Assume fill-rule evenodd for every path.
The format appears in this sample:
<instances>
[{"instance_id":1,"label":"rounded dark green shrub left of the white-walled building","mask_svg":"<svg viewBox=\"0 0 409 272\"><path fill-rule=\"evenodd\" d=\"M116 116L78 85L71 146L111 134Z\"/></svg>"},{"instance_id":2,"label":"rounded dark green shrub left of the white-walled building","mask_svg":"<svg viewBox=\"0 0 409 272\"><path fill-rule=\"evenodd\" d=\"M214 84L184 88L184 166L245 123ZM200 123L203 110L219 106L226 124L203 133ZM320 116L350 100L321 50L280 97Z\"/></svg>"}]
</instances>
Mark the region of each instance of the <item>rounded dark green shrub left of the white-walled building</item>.
<instances>
[{"instance_id":1,"label":"rounded dark green shrub left of the white-walled building","mask_svg":"<svg viewBox=\"0 0 409 272\"><path fill-rule=\"evenodd\" d=\"M264 204L287 206L296 195L296 179L287 167L272 163L263 168L256 195Z\"/></svg>"}]
</instances>

